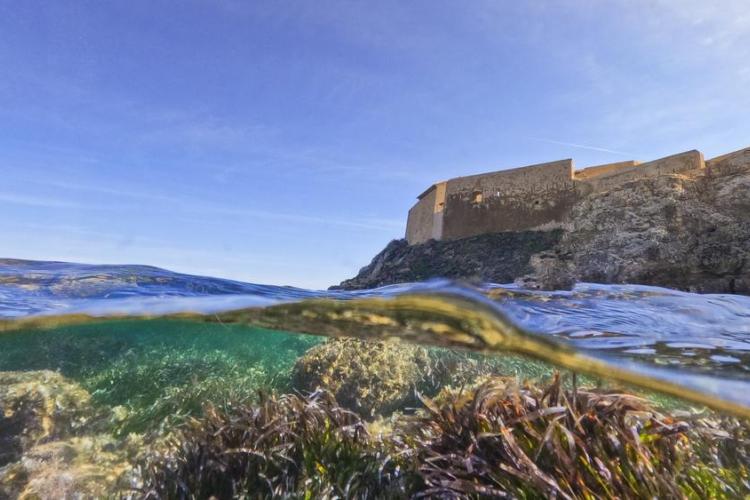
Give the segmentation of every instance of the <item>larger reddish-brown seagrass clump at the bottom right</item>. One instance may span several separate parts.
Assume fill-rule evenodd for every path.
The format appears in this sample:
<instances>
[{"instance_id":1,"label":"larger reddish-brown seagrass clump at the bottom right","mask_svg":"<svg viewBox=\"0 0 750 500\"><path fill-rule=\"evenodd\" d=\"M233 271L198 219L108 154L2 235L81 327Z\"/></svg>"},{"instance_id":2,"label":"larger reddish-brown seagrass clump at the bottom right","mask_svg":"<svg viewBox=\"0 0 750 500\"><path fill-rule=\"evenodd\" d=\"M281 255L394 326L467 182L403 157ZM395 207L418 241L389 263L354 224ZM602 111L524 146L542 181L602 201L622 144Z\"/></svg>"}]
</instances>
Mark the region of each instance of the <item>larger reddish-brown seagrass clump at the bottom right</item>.
<instances>
[{"instance_id":1,"label":"larger reddish-brown seagrass clump at the bottom right","mask_svg":"<svg viewBox=\"0 0 750 500\"><path fill-rule=\"evenodd\" d=\"M396 437L412 450L422 496L729 498L749 491L745 457L722 461L707 448L725 448L726 439L631 394L565 390L556 375L546 388L494 378L442 398L425 400L425 413Z\"/></svg>"}]
</instances>

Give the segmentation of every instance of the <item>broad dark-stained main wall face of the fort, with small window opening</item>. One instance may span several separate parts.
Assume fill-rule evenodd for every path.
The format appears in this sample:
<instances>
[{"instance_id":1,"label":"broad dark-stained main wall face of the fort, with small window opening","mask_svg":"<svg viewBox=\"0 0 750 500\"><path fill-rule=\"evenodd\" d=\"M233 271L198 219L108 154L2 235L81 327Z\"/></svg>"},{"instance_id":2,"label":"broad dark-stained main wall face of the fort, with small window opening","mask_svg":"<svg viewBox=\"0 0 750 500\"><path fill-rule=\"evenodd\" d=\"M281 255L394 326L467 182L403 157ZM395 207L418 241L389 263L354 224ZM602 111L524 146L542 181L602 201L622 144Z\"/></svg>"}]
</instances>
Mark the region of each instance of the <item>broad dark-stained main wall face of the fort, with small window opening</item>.
<instances>
[{"instance_id":1,"label":"broad dark-stained main wall face of the fort, with small window opening","mask_svg":"<svg viewBox=\"0 0 750 500\"><path fill-rule=\"evenodd\" d=\"M542 226L553 229L578 198L569 159L451 179L442 236L457 239Z\"/></svg>"}]
</instances>

